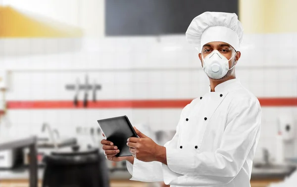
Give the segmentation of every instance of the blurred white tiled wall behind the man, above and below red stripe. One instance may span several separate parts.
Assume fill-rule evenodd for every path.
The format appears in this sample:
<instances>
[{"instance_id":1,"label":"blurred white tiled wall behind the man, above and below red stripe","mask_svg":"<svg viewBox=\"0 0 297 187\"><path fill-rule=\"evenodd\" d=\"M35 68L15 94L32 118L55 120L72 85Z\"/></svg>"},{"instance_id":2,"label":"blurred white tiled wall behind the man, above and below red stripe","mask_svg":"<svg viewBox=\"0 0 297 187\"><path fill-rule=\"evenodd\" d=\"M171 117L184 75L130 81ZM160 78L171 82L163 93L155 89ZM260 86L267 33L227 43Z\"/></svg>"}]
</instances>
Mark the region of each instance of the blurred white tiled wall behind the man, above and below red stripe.
<instances>
[{"instance_id":1,"label":"blurred white tiled wall behind the man, above and below red stripe","mask_svg":"<svg viewBox=\"0 0 297 187\"><path fill-rule=\"evenodd\" d=\"M297 34L246 35L237 77L258 97L297 96ZM7 100L72 100L66 84L79 78L102 85L98 99L196 98L208 92L198 51L184 36L104 39L1 39L0 65L12 71ZM42 71L29 71L29 70ZM70 71L75 69L76 71ZM91 92L89 93L91 97ZM83 93L79 94L83 98ZM297 116L296 107L263 107L259 142L275 152L280 110ZM181 109L9 110L3 123L11 135L36 134L44 122L76 136L77 126L97 127L97 119L128 115L157 130L175 130ZM6 126L2 126L3 129ZM3 130L1 130L3 133ZM295 153L297 155L297 146Z\"/></svg>"}]
</instances>

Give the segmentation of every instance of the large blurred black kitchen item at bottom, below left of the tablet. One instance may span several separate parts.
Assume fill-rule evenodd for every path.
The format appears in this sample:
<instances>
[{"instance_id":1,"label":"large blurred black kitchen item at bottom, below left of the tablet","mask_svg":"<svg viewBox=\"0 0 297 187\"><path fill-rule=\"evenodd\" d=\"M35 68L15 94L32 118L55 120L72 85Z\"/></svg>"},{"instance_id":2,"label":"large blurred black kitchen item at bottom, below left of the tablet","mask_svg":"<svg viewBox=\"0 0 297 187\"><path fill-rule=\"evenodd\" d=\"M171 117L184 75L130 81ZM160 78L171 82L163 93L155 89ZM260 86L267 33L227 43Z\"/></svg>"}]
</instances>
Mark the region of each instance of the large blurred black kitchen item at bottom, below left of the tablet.
<instances>
[{"instance_id":1,"label":"large blurred black kitchen item at bottom, below left of the tablet","mask_svg":"<svg viewBox=\"0 0 297 187\"><path fill-rule=\"evenodd\" d=\"M45 156L43 187L109 187L108 168L97 148L73 146Z\"/></svg>"}]
</instances>

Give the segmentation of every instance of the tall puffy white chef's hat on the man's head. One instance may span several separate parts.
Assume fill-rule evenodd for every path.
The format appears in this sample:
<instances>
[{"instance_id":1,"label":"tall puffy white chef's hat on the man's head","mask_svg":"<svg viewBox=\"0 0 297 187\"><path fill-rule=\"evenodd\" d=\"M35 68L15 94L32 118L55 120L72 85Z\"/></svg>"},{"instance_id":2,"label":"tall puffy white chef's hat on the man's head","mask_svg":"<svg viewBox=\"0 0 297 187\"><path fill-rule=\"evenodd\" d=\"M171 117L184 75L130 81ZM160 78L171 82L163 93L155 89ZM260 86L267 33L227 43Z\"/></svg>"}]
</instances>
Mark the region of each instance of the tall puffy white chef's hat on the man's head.
<instances>
[{"instance_id":1,"label":"tall puffy white chef's hat on the man's head","mask_svg":"<svg viewBox=\"0 0 297 187\"><path fill-rule=\"evenodd\" d=\"M209 42L225 42L239 50L243 26L235 13L204 12L193 19L186 37L198 51Z\"/></svg>"}]
</instances>

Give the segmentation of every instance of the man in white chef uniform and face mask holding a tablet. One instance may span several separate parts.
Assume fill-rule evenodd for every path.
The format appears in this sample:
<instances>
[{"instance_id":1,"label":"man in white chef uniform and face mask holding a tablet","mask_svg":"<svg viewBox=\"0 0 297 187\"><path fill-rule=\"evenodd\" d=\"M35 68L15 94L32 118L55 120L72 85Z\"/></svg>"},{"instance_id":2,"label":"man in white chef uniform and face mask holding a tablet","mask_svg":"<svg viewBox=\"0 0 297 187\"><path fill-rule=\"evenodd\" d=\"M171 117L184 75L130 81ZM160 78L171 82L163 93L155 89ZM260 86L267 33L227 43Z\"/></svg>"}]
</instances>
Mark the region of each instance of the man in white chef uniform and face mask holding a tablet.
<instances>
[{"instance_id":1,"label":"man in white chef uniform and face mask holding a tablet","mask_svg":"<svg viewBox=\"0 0 297 187\"><path fill-rule=\"evenodd\" d=\"M250 187L261 108L235 76L242 25L234 13L204 12L186 36L199 51L210 92L182 110L176 134L164 146L135 128L139 138L127 140L133 156L115 157L117 147L102 140L106 158L127 160L131 180L164 181L172 187Z\"/></svg>"}]
</instances>

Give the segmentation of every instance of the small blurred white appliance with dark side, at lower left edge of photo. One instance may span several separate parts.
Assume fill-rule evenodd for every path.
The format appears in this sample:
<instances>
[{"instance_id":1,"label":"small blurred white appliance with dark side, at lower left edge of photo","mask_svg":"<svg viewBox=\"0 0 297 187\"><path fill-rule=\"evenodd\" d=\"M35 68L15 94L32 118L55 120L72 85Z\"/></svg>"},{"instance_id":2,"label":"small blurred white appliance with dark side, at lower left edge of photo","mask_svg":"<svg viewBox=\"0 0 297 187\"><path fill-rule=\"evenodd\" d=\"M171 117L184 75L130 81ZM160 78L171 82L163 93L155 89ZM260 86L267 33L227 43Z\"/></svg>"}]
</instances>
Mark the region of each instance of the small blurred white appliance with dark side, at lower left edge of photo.
<instances>
[{"instance_id":1,"label":"small blurred white appliance with dark side, at lower left edge of photo","mask_svg":"<svg viewBox=\"0 0 297 187\"><path fill-rule=\"evenodd\" d=\"M14 166L21 164L22 160L22 148L13 148L0 151L0 168L11 169Z\"/></svg>"}]
</instances>

